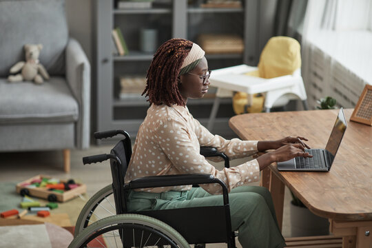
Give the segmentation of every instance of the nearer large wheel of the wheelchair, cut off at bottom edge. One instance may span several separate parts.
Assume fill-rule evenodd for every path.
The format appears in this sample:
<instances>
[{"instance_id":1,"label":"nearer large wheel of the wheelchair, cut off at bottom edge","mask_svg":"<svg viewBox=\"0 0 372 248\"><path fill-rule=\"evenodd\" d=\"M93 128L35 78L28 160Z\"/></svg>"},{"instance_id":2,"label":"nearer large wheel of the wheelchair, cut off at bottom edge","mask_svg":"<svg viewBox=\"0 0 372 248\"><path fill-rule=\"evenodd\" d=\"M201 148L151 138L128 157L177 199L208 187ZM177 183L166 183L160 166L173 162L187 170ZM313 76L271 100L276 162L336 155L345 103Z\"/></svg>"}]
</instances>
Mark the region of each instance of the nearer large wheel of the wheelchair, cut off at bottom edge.
<instances>
[{"instance_id":1,"label":"nearer large wheel of the wheelchair, cut off at bottom edge","mask_svg":"<svg viewBox=\"0 0 372 248\"><path fill-rule=\"evenodd\" d=\"M178 232L161 220L140 214L120 214L98 220L72 240L77 247L189 248Z\"/></svg>"}]
</instances>

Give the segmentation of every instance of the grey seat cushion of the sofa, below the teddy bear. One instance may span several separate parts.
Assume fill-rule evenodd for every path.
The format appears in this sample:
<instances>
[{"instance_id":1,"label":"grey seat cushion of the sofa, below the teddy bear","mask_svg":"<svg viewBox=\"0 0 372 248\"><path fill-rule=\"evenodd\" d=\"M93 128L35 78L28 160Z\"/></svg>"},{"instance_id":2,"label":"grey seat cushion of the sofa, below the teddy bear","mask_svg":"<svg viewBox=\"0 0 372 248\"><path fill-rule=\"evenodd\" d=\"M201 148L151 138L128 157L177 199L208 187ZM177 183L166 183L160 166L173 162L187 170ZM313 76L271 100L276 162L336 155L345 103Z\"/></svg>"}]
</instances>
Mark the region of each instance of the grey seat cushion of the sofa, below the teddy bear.
<instances>
[{"instance_id":1,"label":"grey seat cushion of the sofa, below the teddy bear","mask_svg":"<svg viewBox=\"0 0 372 248\"><path fill-rule=\"evenodd\" d=\"M79 114L79 105L61 77L42 85L0 79L0 106L0 125L73 122Z\"/></svg>"}]
</instances>

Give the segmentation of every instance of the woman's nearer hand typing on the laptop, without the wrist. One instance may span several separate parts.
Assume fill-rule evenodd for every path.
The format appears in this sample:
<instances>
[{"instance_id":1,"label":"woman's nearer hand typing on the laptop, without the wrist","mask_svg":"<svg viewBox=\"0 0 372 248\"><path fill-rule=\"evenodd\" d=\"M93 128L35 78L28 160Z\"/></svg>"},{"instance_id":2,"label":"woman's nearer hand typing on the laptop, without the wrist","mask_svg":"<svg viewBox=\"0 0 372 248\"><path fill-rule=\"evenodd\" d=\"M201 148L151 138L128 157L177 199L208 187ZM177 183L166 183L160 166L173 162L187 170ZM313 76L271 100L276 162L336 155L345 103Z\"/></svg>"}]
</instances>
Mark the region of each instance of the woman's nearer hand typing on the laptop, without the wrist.
<instances>
[{"instance_id":1,"label":"woman's nearer hand typing on the laptop, without the wrist","mask_svg":"<svg viewBox=\"0 0 372 248\"><path fill-rule=\"evenodd\" d=\"M304 147L300 143L289 143L276 149L272 152L273 162L289 161L289 159L295 158L296 156L302 156L304 158L311 158L312 155L309 152L304 151Z\"/></svg>"}]
</instances>

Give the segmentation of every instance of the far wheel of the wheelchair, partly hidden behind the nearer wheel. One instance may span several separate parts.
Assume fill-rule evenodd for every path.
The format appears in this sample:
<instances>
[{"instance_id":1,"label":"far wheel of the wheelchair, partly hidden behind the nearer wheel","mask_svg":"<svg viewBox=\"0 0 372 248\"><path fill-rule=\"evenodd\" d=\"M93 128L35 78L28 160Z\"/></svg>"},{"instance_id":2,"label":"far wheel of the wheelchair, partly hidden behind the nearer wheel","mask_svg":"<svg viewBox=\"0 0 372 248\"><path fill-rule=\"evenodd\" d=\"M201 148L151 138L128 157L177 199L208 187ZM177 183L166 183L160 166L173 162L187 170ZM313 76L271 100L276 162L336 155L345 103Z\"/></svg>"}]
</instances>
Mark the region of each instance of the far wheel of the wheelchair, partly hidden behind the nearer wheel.
<instances>
[{"instance_id":1,"label":"far wheel of the wheelchair, partly hidden behind the nearer wheel","mask_svg":"<svg viewBox=\"0 0 372 248\"><path fill-rule=\"evenodd\" d=\"M75 237L85 227L97 220L116 215L114 194L112 193L112 185L107 185L87 201L83 209L81 209L79 218L76 220Z\"/></svg>"}]
</instances>

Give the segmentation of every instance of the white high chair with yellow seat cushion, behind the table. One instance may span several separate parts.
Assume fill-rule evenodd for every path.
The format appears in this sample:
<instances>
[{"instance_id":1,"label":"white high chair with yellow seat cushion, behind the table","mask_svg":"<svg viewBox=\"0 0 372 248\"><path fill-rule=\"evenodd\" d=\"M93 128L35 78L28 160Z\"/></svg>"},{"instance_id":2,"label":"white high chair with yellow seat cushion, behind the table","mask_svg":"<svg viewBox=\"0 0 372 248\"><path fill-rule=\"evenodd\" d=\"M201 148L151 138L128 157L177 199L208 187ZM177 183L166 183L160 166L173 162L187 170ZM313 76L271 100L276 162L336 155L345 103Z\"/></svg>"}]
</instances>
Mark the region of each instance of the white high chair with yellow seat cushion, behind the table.
<instances>
[{"instance_id":1,"label":"white high chair with yellow seat cushion, behind the table","mask_svg":"<svg viewBox=\"0 0 372 248\"><path fill-rule=\"evenodd\" d=\"M273 37L272 41L279 40L291 41L293 39L289 37ZM267 45L269 45L269 42ZM293 41L291 41L293 42ZM297 41L296 41L297 42ZM280 44L280 43L279 43ZM280 45L283 45L282 43ZM275 44L273 45L275 47ZM273 48L271 45L271 50ZM266 47L265 47L266 48ZM265 50L265 49L264 49ZM299 45L298 45L299 50ZM299 52L299 51L298 51ZM289 54L289 56L294 56L293 50L283 50L281 53L278 52L278 56L282 54ZM262 52L263 54L263 52ZM262 59L262 54L260 61ZM266 54L267 55L267 54ZM300 56L296 54L296 56ZM271 59L271 57L269 57ZM277 60L276 60L277 59ZM275 61L276 60L276 61ZM272 61L275 63L281 63L282 57L273 57ZM269 61L271 63L271 61ZM273 70L268 69L268 65L262 63L261 66L266 66L265 70L269 73L275 72L278 68ZM265 79L258 76L247 75L249 72L257 71L258 67L249 66L249 65L236 65L229 68L223 68L219 70L214 70L211 73L209 81L212 87L217 87L216 98L214 99L214 104L209 116L209 121L207 129L212 130L214 126L214 121L216 119L216 114L218 112L218 107L220 105L221 98L230 98L233 96L234 92L245 92L247 93L247 105L250 106L253 102L253 95L257 93L262 93L265 96L265 112L270 112L272 107L279 107L287 105L290 100L300 99L302 100L304 110L308 110L307 105L307 94L304 89L304 83L302 81L301 70L298 68L294 70L292 74L287 74L285 76L277 76L270 79ZM272 73L271 73L272 74Z\"/></svg>"}]
</instances>

